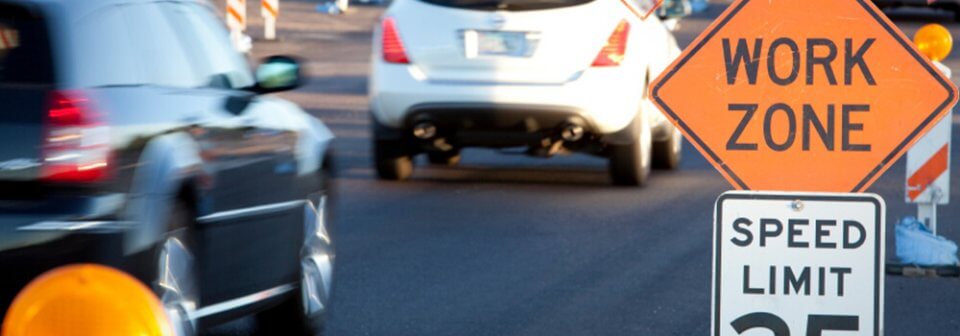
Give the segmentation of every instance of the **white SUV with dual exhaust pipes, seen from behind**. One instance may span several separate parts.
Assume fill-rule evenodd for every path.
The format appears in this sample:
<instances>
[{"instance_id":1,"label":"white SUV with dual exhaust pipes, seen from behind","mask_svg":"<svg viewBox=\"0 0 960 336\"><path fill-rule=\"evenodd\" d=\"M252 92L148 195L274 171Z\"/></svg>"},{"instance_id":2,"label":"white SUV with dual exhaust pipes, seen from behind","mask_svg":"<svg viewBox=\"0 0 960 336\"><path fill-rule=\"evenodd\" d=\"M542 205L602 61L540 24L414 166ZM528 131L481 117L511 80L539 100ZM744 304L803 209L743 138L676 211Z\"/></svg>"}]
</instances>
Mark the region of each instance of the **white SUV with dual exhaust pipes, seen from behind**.
<instances>
[{"instance_id":1,"label":"white SUV with dual exhaust pipes, seen from behind","mask_svg":"<svg viewBox=\"0 0 960 336\"><path fill-rule=\"evenodd\" d=\"M608 157L618 185L676 168L682 137L648 98L679 54L646 0L396 0L374 35L378 176L464 147ZM628 7L629 6L629 7Z\"/></svg>"}]
</instances>

